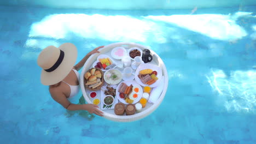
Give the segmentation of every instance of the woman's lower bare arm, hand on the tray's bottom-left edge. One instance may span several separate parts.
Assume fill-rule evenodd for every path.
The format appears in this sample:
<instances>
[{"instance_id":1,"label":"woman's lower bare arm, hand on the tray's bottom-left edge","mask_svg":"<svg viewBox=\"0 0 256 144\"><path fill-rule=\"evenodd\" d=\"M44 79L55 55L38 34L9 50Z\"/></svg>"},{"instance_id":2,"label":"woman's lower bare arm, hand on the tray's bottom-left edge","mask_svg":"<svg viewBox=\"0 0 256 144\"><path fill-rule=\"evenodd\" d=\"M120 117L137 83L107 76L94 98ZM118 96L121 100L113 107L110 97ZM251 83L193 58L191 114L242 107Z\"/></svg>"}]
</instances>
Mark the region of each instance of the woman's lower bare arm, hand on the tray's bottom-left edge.
<instances>
[{"instance_id":1,"label":"woman's lower bare arm, hand on the tray's bottom-left edge","mask_svg":"<svg viewBox=\"0 0 256 144\"><path fill-rule=\"evenodd\" d=\"M102 111L98 110L98 106L94 105L94 104L83 104L83 105L77 105L77 104L71 104L65 94L63 94L62 92L59 91L50 91L51 93L51 97L53 97L53 99L55 101L57 101L57 103L61 104L63 107L65 107L65 109L67 110L71 110L71 111L75 111L75 110L86 110L90 113L95 113L98 116L103 116L102 115Z\"/></svg>"}]
</instances>

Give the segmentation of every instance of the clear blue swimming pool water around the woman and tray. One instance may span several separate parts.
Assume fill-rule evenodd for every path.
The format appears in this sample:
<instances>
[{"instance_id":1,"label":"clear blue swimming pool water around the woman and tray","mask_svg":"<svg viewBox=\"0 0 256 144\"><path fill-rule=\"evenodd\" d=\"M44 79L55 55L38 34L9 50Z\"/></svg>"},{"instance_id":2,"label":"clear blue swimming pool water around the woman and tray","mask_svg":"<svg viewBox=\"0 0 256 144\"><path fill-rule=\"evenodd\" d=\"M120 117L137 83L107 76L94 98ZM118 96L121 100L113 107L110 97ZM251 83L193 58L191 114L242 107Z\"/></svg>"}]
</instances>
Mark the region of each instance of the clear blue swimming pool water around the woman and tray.
<instances>
[{"instance_id":1,"label":"clear blue swimming pool water around the woman and tray","mask_svg":"<svg viewBox=\"0 0 256 144\"><path fill-rule=\"evenodd\" d=\"M191 10L1 5L0 141L256 143L256 6ZM36 60L46 46L73 43L80 60L119 41L150 47L168 70L165 99L146 118L67 112L40 84Z\"/></svg>"}]
</instances>

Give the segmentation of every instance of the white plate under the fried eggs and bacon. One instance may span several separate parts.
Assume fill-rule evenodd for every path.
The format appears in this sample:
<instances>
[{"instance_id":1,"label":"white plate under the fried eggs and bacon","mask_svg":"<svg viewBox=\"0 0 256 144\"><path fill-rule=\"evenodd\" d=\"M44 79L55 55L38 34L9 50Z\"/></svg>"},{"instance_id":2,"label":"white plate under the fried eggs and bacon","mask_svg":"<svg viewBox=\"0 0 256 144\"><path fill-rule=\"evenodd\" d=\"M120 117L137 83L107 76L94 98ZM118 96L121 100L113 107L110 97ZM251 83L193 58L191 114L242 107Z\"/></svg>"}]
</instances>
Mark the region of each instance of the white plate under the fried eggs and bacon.
<instances>
[{"instance_id":1,"label":"white plate under the fried eggs and bacon","mask_svg":"<svg viewBox=\"0 0 256 144\"><path fill-rule=\"evenodd\" d=\"M143 94L143 89L142 89L142 87L139 86L139 84L138 84L136 81L123 81L123 82L124 82L127 86L132 85L133 87L136 86L136 87L139 88L138 97L137 97L136 100L133 101L132 104L137 103L137 102L141 99L142 94ZM118 87L117 87L117 90L116 90L116 95L115 95L115 97L117 97L118 100L121 101L121 103L123 103L123 104L128 104L128 103L126 103L126 101L125 101L123 98L120 98L120 96L119 96L120 93L118 92L118 89L120 88L121 83L123 83L123 82L120 82L120 83L119 83L119 85L118 85Z\"/></svg>"}]
</instances>

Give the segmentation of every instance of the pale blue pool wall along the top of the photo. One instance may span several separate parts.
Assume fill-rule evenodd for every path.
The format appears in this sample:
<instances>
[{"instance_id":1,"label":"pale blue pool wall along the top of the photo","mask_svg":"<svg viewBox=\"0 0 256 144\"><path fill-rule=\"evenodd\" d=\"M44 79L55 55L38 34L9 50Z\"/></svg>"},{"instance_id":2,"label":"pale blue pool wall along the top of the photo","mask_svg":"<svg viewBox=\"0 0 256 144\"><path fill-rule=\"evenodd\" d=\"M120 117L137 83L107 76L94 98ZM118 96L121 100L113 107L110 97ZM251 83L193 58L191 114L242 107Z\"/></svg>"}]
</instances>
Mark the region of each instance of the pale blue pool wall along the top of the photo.
<instances>
[{"instance_id":1,"label":"pale blue pool wall along the top of the photo","mask_svg":"<svg viewBox=\"0 0 256 144\"><path fill-rule=\"evenodd\" d=\"M212 7L234 7L255 5L255 0L10 0L0 1L0 5L18 6L40 6L50 8L79 8L79 9L190 9L190 8L212 8Z\"/></svg>"}]
</instances>

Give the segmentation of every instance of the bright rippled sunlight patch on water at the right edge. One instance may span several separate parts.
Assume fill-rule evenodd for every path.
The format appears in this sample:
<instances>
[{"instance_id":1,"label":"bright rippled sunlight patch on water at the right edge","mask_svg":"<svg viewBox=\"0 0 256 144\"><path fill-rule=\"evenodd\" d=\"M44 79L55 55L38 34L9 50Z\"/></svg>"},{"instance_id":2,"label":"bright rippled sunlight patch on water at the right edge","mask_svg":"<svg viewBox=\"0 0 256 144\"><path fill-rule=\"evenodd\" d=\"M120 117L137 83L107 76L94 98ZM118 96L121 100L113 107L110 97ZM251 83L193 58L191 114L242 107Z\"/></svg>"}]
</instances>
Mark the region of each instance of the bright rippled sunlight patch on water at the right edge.
<instances>
[{"instance_id":1,"label":"bright rippled sunlight patch on water at the right edge","mask_svg":"<svg viewBox=\"0 0 256 144\"><path fill-rule=\"evenodd\" d=\"M232 71L230 77L223 70L212 70L206 75L214 91L219 93L219 99L226 110L236 112L256 111L256 71Z\"/></svg>"}]
</instances>

